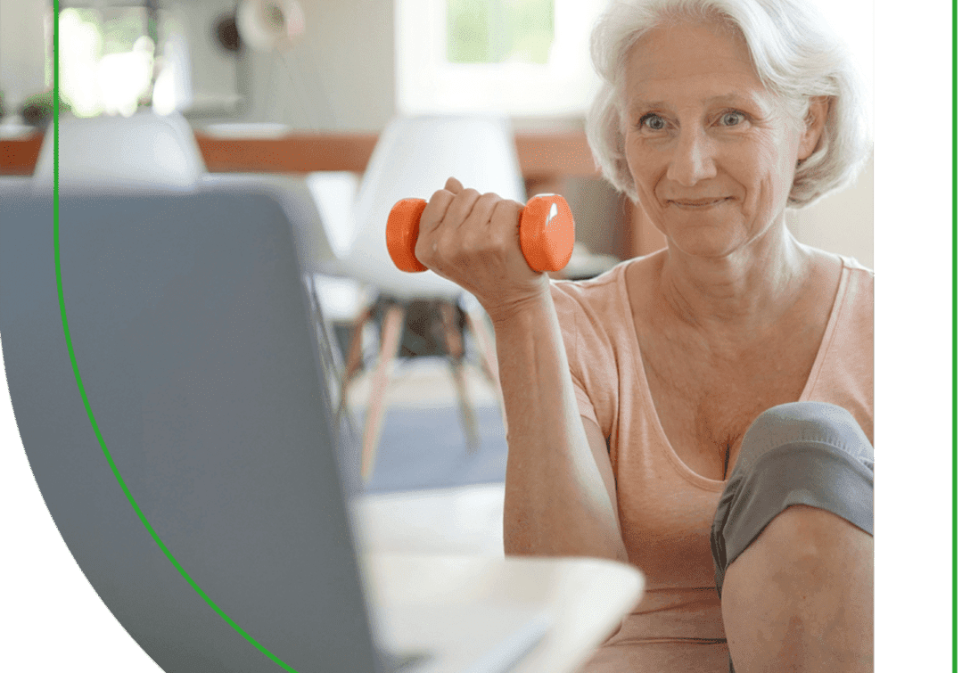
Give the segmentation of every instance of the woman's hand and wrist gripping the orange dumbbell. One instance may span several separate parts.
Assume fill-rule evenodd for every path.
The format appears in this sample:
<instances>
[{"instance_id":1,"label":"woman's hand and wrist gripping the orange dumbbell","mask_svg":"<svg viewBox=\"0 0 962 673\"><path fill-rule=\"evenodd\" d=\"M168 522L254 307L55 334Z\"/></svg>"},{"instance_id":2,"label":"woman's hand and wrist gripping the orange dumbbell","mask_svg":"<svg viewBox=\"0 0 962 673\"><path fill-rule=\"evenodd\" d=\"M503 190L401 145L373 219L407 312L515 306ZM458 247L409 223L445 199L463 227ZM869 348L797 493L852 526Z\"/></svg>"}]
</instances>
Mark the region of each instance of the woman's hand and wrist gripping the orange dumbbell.
<instances>
[{"instance_id":1,"label":"woman's hand and wrist gripping the orange dumbbell","mask_svg":"<svg viewBox=\"0 0 962 673\"><path fill-rule=\"evenodd\" d=\"M495 322L549 292L521 254L523 206L448 178L421 214L415 257L477 297Z\"/></svg>"}]
</instances>

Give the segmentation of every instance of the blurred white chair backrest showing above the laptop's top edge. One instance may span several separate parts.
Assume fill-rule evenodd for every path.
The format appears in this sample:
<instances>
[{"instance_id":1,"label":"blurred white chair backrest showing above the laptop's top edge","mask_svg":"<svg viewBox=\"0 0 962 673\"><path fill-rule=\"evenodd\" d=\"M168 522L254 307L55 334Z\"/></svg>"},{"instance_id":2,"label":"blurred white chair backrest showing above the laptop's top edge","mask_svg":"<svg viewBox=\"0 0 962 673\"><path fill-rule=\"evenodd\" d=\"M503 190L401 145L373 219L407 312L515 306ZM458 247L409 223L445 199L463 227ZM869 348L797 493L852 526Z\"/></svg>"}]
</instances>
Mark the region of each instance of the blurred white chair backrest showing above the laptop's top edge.
<instances>
[{"instance_id":1,"label":"blurred white chair backrest showing above the laptop's top edge","mask_svg":"<svg viewBox=\"0 0 962 673\"><path fill-rule=\"evenodd\" d=\"M54 133L43 137L35 188L52 190ZM60 188L62 193L91 191L187 190L206 171L188 121L142 111L130 117L60 119Z\"/></svg>"}]
</instances>

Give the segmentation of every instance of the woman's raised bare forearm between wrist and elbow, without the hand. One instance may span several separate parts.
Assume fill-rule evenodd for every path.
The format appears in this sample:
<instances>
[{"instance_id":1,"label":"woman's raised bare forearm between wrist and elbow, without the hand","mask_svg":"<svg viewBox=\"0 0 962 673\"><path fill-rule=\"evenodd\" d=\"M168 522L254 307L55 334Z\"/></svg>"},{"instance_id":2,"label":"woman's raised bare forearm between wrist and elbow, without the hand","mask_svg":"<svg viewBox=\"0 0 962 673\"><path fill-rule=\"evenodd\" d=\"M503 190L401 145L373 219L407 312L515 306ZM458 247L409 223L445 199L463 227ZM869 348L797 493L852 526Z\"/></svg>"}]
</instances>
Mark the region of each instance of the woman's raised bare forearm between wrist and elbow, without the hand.
<instances>
[{"instance_id":1,"label":"woman's raised bare forearm between wrist and elbow, without the hand","mask_svg":"<svg viewBox=\"0 0 962 673\"><path fill-rule=\"evenodd\" d=\"M492 317L508 424L505 554L627 562L606 442L578 411L550 294Z\"/></svg>"}]
</instances>

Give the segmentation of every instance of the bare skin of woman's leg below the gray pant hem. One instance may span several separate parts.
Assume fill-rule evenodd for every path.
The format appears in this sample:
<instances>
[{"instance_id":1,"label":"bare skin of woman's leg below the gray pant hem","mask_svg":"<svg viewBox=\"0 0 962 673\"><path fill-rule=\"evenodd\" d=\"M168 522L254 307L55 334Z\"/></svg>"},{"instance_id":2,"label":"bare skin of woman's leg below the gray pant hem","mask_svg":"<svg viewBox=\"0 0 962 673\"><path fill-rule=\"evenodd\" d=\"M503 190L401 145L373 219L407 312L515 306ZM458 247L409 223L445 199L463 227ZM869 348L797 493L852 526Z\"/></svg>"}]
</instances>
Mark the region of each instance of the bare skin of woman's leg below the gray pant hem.
<instances>
[{"instance_id":1,"label":"bare skin of woman's leg below the gray pant hem","mask_svg":"<svg viewBox=\"0 0 962 673\"><path fill-rule=\"evenodd\" d=\"M805 505L772 519L725 573L738 673L873 670L873 537Z\"/></svg>"}]
</instances>

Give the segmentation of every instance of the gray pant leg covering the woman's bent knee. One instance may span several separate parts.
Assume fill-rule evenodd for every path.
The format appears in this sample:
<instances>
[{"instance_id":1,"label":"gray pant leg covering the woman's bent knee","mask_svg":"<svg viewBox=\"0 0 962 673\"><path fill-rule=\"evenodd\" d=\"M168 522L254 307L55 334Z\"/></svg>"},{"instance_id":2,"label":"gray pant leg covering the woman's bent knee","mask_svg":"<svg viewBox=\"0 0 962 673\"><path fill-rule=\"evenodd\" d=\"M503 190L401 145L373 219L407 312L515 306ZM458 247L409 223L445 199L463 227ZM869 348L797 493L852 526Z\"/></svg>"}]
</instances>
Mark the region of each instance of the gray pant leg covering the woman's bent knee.
<instances>
[{"instance_id":1,"label":"gray pant leg covering the woman's bent knee","mask_svg":"<svg viewBox=\"0 0 962 673\"><path fill-rule=\"evenodd\" d=\"M793 402L761 413L742 441L712 524L715 584L781 511L809 505L874 535L874 449L848 411Z\"/></svg>"}]
</instances>

